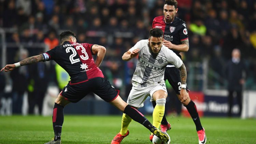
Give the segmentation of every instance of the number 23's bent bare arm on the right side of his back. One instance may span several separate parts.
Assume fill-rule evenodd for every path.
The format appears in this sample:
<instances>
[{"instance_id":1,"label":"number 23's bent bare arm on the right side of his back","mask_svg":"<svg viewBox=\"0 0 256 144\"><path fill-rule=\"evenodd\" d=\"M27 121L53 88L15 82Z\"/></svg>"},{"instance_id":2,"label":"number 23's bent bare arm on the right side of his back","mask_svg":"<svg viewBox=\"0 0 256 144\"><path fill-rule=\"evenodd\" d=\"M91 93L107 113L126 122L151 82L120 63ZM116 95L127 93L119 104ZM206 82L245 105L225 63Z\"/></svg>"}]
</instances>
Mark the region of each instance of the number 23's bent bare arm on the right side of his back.
<instances>
[{"instance_id":1,"label":"number 23's bent bare arm on the right side of his back","mask_svg":"<svg viewBox=\"0 0 256 144\"><path fill-rule=\"evenodd\" d=\"M96 66L99 67L105 57L106 48L103 46L100 46L100 45L93 45L93 47L91 49L94 54L97 54L95 64L96 64Z\"/></svg>"}]
</instances>

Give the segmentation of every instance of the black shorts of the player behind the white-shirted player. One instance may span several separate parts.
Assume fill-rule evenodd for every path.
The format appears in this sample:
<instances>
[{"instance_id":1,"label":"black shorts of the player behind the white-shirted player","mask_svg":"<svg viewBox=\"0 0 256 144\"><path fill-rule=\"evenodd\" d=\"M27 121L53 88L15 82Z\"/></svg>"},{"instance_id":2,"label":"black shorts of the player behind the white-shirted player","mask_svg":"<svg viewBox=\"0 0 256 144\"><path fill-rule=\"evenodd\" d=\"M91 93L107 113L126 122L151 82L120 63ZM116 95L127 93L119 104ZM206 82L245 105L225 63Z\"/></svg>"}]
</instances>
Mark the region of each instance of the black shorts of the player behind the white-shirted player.
<instances>
[{"instance_id":1,"label":"black shorts of the player behind the white-shirted player","mask_svg":"<svg viewBox=\"0 0 256 144\"><path fill-rule=\"evenodd\" d=\"M168 80L176 94L180 94L181 76L179 69L177 69L176 67L166 67L164 80ZM186 90L189 91L188 88L186 88Z\"/></svg>"}]
</instances>

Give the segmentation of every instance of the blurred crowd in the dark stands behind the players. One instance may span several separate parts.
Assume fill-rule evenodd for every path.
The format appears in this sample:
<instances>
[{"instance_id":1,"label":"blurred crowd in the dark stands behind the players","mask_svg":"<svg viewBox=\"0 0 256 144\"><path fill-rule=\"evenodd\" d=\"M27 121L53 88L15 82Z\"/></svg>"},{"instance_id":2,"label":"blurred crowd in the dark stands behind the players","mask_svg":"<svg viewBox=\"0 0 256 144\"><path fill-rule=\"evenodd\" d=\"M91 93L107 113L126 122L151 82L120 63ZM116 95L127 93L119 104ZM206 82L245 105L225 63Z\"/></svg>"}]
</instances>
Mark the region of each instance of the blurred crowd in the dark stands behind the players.
<instances>
[{"instance_id":1,"label":"blurred crowd in the dark stands behind the players","mask_svg":"<svg viewBox=\"0 0 256 144\"><path fill-rule=\"evenodd\" d=\"M188 27L189 51L182 53L188 73L192 69L189 67L191 63L208 61L209 85L215 89L225 87L224 69L231 59L231 51L238 48L247 69L245 87L255 90L256 1L177 1L179 11L176 16L183 19ZM6 63L15 63L45 52L45 49L31 47L33 44L44 43L48 49L54 48L60 44L59 34L64 30L71 30L76 33L79 43L106 47L101 69L105 77L128 97L137 61L122 61L122 55L139 40L149 37L154 17L163 15L163 2L164 0L0 0L0 26L5 30L6 43L17 45L10 48L7 45ZM22 44L26 45L20 50L18 45ZM11 74L13 81L17 81L13 82L13 88L20 89L16 91L17 95L19 91L38 91L36 95L39 95L45 91L47 81L55 82L58 79L56 69L54 63L50 66L38 64L32 68L20 67L14 72L16 74ZM202 90L202 85L188 87L195 91Z\"/></svg>"}]
</instances>

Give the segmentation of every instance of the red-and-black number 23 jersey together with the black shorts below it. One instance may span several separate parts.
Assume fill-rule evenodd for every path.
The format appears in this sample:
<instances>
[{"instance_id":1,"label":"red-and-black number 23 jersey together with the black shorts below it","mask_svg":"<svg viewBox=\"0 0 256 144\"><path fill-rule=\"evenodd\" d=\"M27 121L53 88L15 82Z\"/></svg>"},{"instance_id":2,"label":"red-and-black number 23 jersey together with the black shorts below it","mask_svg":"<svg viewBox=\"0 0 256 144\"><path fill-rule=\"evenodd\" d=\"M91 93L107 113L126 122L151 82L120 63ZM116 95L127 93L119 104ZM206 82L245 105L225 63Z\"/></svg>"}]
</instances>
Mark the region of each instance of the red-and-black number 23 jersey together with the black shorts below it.
<instances>
[{"instance_id":1,"label":"red-and-black number 23 jersey together with the black shorts below it","mask_svg":"<svg viewBox=\"0 0 256 144\"><path fill-rule=\"evenodd\" d=\"M93 44L66 41L43 53L44 61L54 60L68 72L70 82L60 95L70 102L78 102L89 92L94 92L107 102L119 94L94 63L92 47Z\"/></svg>"}]
</instances>

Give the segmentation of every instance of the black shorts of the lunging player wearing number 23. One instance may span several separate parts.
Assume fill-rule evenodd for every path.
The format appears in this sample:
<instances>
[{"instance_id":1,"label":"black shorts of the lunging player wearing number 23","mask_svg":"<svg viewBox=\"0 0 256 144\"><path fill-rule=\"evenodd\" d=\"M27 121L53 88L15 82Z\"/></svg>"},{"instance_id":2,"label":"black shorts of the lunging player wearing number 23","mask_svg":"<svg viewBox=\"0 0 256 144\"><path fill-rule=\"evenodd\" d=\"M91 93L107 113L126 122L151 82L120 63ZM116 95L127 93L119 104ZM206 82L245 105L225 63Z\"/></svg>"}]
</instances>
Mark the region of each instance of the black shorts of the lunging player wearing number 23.
<instances>
[{"instance_id":1,"label":"black shorts of the lunging player wearing number 23","mask_svg":"<svg viewBox=\"0 0 256 144\"><path fill-rule=\"evenodd\" d=\"M100 77L77 84L69 83L63 88L60 95L75 103L90 92L95 93L106 102L113 101L119 95L119 90L115 90L106 78Z\"/></svg>"}]
</instances>

